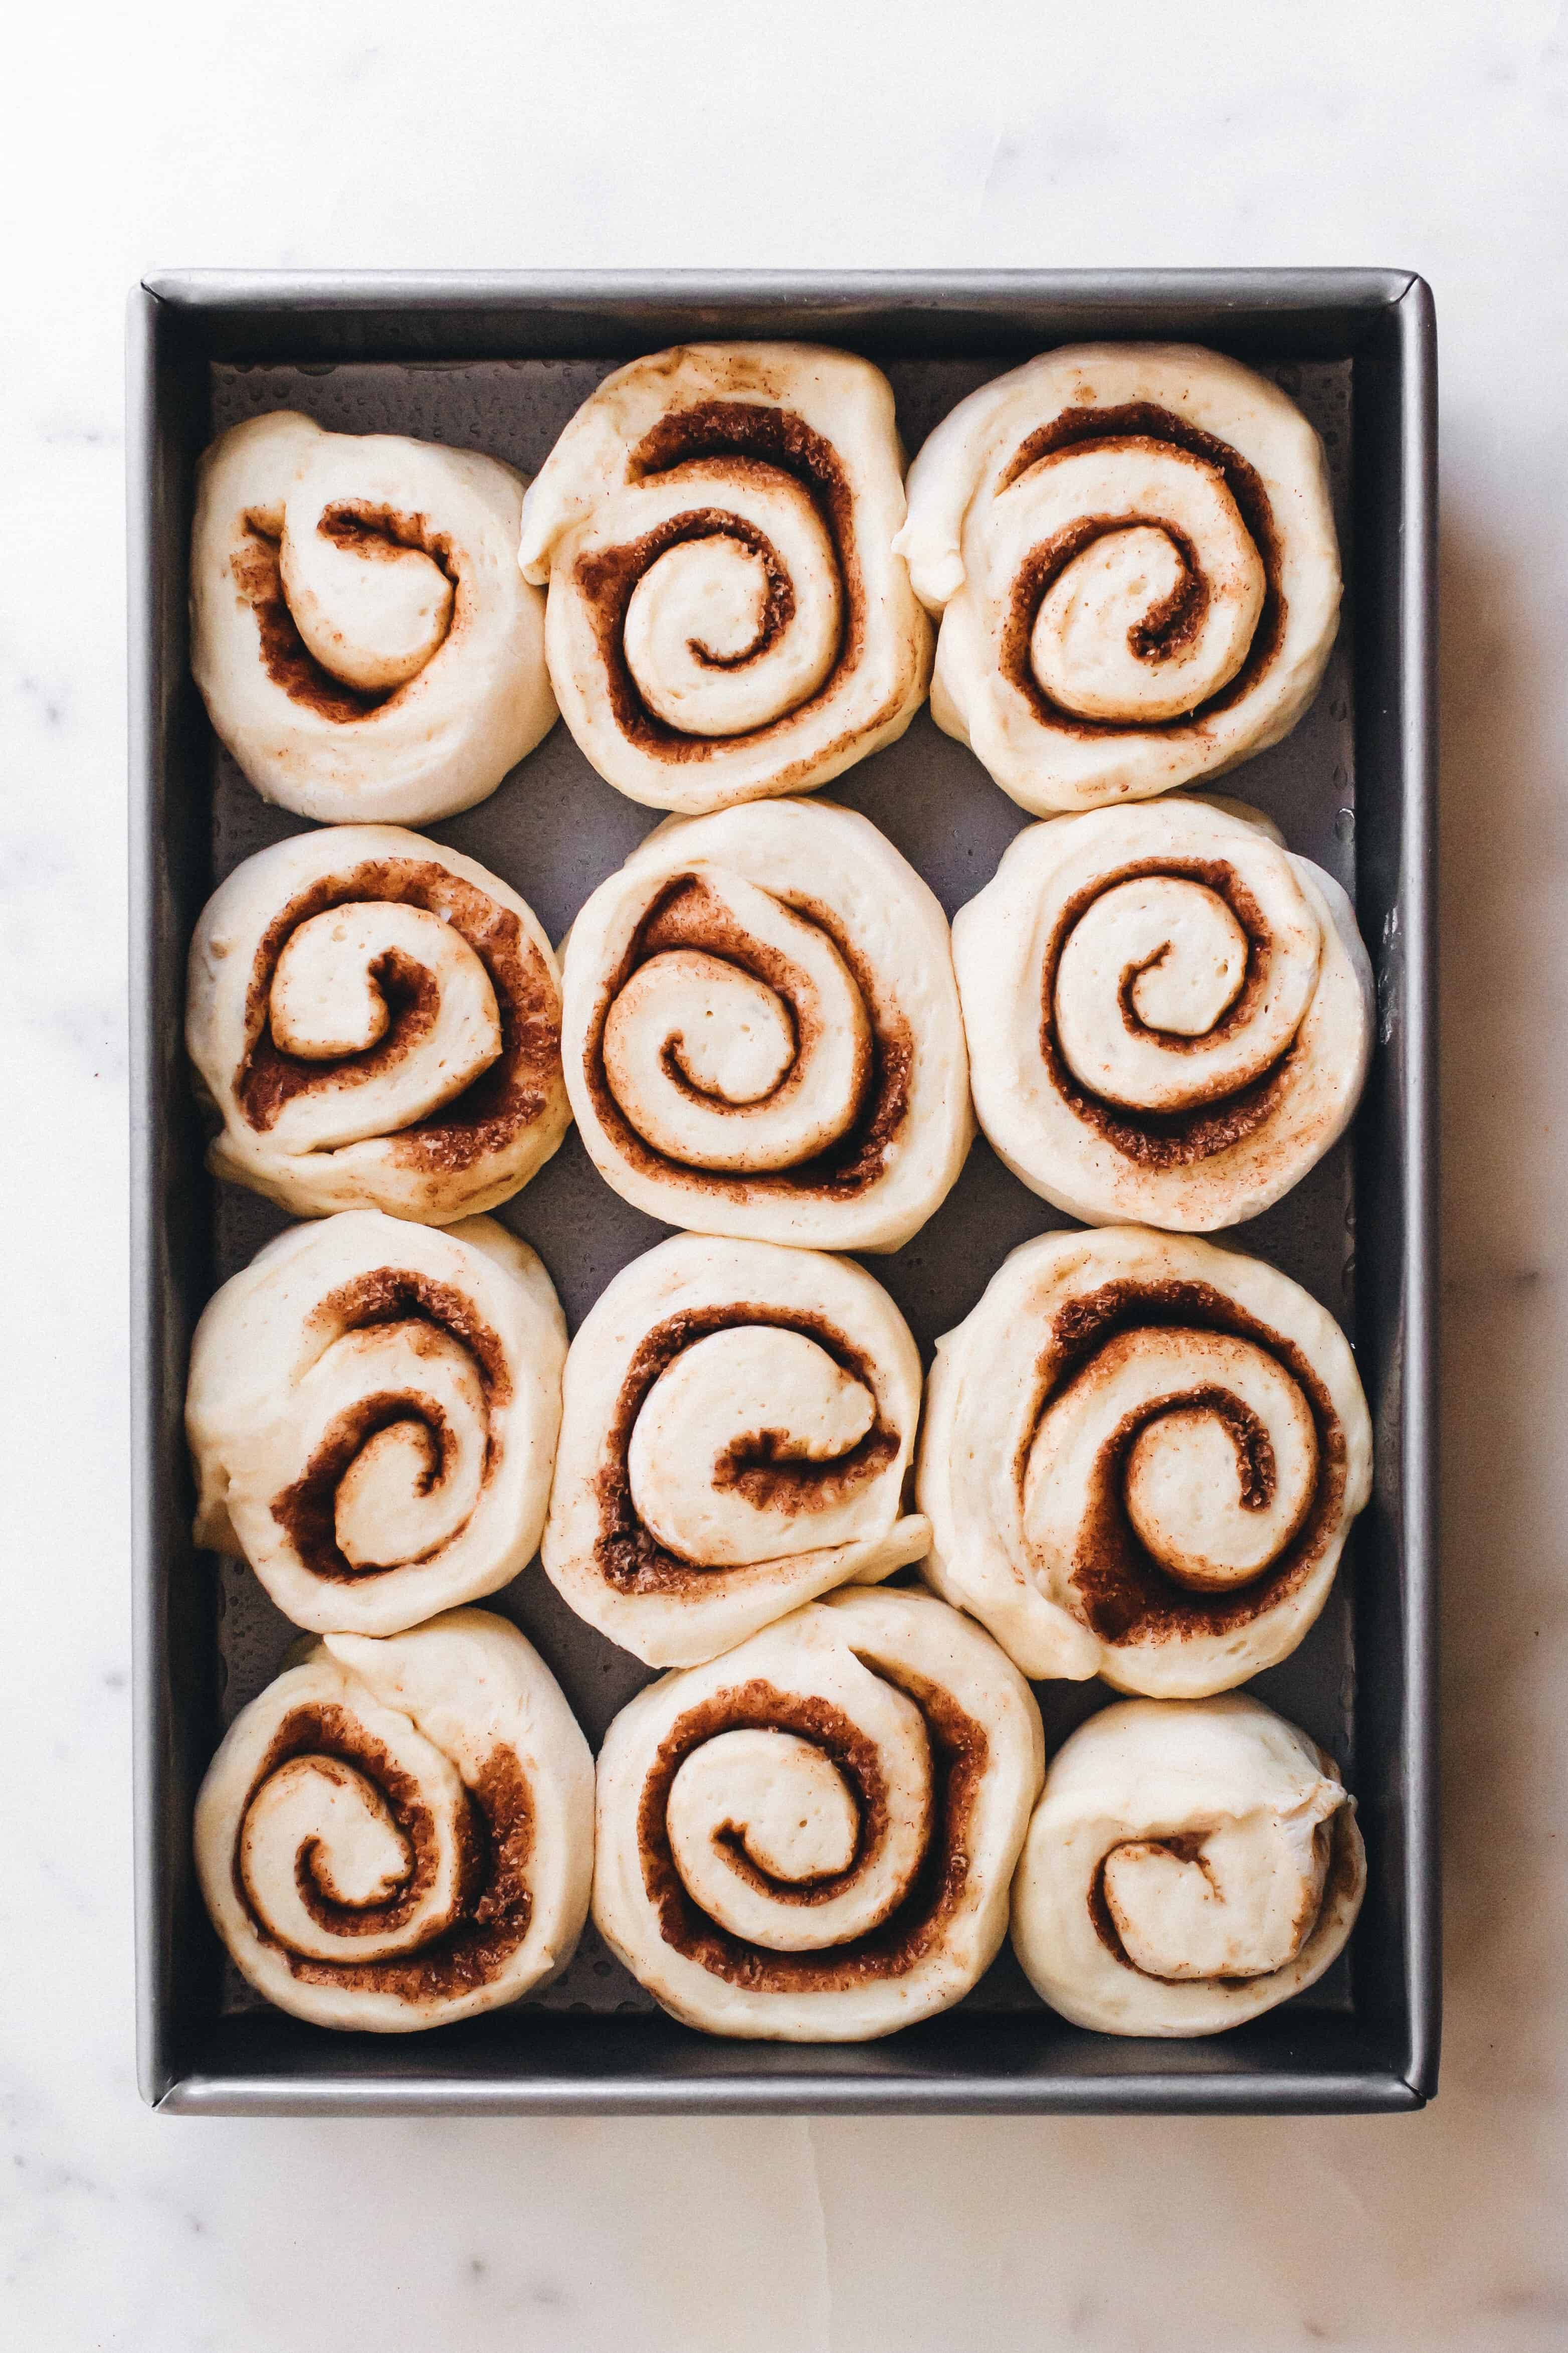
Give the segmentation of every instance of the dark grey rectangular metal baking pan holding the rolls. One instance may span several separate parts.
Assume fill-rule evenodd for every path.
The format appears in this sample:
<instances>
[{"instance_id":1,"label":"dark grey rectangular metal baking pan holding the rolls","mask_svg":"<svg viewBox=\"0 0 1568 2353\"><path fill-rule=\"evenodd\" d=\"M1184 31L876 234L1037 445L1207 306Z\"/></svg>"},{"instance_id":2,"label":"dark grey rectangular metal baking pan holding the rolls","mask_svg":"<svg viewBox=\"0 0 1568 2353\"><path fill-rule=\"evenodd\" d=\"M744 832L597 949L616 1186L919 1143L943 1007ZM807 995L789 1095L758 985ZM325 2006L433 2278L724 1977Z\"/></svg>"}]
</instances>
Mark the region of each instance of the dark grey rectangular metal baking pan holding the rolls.
<instances>
[{"instance_id":1,"label":"dark grey rectangular metal baking pan holding the rolls","mask_svg":"<svg viewBox=\"0 0 1568 2353\"><path fill-rule=\"evenodd\" d=\"M1065 341L1175 336L1276 374L1324 431L1349 602L1316 706L1234 791L1356 896L1378 969L1378 1056L1354 1134L1227 1240L1284 1266L1352 1332L1378 1487L1331 1607L1258 1687L1349 1769L1366 1908L1319 1988L1234 2033L1081 2033L1009 1953L943 2019L856 2047L722 2042L665 2019L592 1932L541 1998L425 2035L343 2035L256 2007L207 1927L190 1807L223 1722L292 1628L237 1565L190 1544L181 1435L200 1306L280 1217L202 1169L181 1047L183 955L237 859L299 819L219 753L190 682L195 456L214 431L303 407L350 431L494 449L534 471L616 362L693 336L809 336L889 369L914 447L966 391ZM1434 1791L1434 322L1401 271L910 275L150 278L129 320L132 1056L139 2040L148 2101L183 2113L386 2111L1394 2111L1436 2085ZM1025 824L929 713L832 786L969 899ZM559 936L656 812L618 798L562 727L442 840L484 859ZM571 1322L663 1228L569 1141L503 1212ZM978 1144L950 1202L877 1275L929 1351L1013 1242L1056 1219ZM505 1595L592 1739L644 1680L534 1565ZM1051 1741L1105 1701L1041 1685Z\"/></svg>"}]
</instances>

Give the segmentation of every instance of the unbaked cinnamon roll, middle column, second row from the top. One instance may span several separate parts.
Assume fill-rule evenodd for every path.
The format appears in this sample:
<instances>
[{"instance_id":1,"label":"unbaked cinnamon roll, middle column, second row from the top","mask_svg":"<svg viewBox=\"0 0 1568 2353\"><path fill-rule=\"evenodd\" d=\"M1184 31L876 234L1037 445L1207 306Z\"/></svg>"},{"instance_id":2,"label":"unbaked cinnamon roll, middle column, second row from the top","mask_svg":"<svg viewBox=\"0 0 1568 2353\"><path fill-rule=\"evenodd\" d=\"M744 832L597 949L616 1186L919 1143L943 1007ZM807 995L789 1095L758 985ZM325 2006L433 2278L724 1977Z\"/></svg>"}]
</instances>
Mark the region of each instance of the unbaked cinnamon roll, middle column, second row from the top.
<instances>
[{"instance_id":1,"label":"unbaked cinnamon roll, middle column, second row from the top","mask_svg":"<svg viewBox=\"0 0 1568 2353\"><path fill-rule=\"evenodd\" d=\"M896 1249L957 1181L973 1115L947 920L853 809L656 826L564 967L583 1144L651 1217Z\"/></svg>"}]
</instances>

